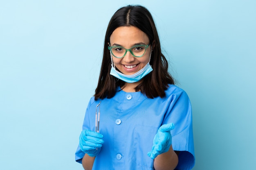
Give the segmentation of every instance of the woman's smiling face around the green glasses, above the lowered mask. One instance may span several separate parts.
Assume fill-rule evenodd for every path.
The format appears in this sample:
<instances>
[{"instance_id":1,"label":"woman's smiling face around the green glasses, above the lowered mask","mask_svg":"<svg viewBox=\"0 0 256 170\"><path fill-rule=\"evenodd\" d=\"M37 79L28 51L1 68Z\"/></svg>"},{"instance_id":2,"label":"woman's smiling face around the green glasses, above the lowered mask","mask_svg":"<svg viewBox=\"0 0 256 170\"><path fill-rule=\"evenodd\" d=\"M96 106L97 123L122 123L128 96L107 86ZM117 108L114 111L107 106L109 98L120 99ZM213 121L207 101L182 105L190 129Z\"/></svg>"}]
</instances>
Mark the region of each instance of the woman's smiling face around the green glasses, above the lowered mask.
<instances>
[{"instance_id":1,"label":"woman's smiling face around the green glasses, above the lowered mask","mask_svg":"<svg viewBox=\"0 0 256 170\"><path fill-rule=\"evenodd\" d=\"M130 49L138 44L149 43L148 36L135 26L120 26L110 36L111 46L122 46ZM142 57L134 57L129 51L123 58L116 58L112 55L115 67L126 75L131 75L141 70L150 59L151 45L146 49Z\"/></svg>"}]
</instances>

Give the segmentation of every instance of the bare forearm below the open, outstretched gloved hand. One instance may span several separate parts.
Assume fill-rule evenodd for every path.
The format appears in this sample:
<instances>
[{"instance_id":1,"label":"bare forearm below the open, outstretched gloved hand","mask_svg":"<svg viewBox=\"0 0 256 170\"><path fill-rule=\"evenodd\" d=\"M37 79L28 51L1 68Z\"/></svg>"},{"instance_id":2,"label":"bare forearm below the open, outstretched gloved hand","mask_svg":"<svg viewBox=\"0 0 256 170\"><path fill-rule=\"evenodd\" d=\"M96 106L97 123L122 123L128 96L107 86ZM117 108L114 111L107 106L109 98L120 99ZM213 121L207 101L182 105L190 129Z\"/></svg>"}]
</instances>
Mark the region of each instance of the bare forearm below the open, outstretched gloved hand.
<instances>
[{"instance_id":1,"label":"bare forearm below the open, outstretched gloved hand","mask_svg":"<svg viewBox=\"0 0 256 170\"><path fill-rule=\"evenodd\" d=\"M172 145L166 153L158 155L154 160L155 170L174 170L178 164L178 156Z\"/></svg>"}]
</instances>

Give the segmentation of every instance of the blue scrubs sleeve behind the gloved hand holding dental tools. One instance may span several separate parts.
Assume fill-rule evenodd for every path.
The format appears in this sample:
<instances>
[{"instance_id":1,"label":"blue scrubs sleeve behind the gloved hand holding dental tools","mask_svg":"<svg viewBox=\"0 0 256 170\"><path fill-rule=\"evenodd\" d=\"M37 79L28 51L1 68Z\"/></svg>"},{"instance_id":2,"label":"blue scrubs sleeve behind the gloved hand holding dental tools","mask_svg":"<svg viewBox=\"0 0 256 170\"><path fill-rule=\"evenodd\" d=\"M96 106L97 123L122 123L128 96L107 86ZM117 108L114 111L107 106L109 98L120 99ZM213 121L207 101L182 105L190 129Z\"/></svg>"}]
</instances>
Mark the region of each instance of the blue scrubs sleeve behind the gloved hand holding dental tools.
<instances>
[{"instance_id":1,"label":"blue scrubs sleeve behind the gloved hand holding dental tools","mask_svg":"<svg viewBox=\"0 0 256 170\"><path fill-rule=\"evenodd\" d=\"M88 103L87 109L85 111L85 117L84 117L84 120L83 120L82 130L90 129L89 108L90 108L90 105L91 105L92 101L94 101L94 100L91 98L90 102ZM81 150L80 146L78 145L78 147L76 149L76 153L75 153L76 162L82 163L82 159L83 159L84 155L85 155L85 153Z\"/></svg>"}]
</instances>

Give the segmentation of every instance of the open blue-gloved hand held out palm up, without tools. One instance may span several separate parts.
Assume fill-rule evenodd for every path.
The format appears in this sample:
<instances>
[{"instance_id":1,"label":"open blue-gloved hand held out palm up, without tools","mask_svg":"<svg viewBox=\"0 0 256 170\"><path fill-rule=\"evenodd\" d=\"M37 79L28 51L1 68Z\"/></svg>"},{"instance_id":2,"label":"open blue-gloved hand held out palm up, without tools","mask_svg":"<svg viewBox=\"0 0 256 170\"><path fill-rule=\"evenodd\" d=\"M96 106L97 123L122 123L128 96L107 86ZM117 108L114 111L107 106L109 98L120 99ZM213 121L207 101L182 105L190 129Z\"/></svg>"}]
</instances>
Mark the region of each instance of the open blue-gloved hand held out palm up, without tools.
<instances>
[{"instance_id":1,"label":"open blue-gloved hand held out palm up, without tools","mask_svg":"<svg viewBox=\"0 0 256 170\"><path fill-rule=\"evenodd\" d=\"M171 130L174 129L174 124L163 124L157 131L157 134L155 135L153 139L153 147L150 152L148 152L148 156L151 159L155 159L157 155L160 155L161 153L165 153L169 150L171 144L172 144L172 136L171 136Z\"/></svg>"}]
</instances>

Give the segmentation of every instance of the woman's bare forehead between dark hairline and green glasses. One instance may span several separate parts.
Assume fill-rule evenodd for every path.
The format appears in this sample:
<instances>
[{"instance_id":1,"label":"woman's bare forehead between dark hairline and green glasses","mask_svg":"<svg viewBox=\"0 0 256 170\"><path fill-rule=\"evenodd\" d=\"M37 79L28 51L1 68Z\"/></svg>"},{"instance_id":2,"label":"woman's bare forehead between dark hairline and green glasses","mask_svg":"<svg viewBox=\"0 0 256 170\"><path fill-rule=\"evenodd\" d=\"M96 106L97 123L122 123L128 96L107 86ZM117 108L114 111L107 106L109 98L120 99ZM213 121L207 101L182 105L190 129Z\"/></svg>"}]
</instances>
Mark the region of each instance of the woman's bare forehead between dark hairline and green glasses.
<instances>
[{"instance_id":1,"label":"woman's bare forehead between dark hairline and green glasses","mask_svg":"<svg viewBox=\"0 0 256 170\"><path fill-rule=\"evenodd\" d=\"M149 38L146 33L135 26L120 26L110 36L110 44L131 46L137 43L148 44Z\"/></svg>"}]
</instances>

